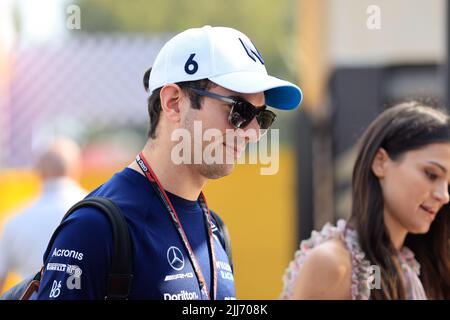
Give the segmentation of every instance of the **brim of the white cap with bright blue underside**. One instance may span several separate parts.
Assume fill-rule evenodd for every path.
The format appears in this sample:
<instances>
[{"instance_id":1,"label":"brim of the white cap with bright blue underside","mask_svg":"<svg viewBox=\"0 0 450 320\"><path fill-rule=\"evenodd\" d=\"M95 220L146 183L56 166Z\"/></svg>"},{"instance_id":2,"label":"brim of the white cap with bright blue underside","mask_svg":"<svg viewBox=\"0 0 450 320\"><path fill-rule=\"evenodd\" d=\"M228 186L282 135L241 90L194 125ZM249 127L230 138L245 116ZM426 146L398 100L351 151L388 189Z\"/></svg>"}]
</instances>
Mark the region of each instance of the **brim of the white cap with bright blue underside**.
<instances>
[{"instance_id":1,"label":"brim of the white cap with bright blue underside","mask_svg":"<svg viewBox=\"0 0 450 320\"><path fill-rule=\"evenodd\" d=\"M258 72L234 72L209 80L240 93L264 92L266 104L277 109L292 110L302 102L302 91L295 84Z\"/></svg>"}]
</instances>

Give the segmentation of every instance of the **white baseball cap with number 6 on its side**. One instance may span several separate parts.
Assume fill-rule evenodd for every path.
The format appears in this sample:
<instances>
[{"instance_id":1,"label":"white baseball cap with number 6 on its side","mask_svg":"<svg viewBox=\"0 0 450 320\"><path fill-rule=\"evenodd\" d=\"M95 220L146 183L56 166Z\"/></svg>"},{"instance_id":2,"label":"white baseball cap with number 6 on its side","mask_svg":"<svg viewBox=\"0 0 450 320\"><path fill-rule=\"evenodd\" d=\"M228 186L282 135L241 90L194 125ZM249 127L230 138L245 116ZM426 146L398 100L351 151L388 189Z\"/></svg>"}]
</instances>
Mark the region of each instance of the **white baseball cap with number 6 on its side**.
<instances>
[{"instance_id":1,"label":"white baseball cap with number 6 on its side","mask_svg":"<svg viewBox=\"0 0 450 320\"><path fill-rule=\"evenodd\" d=\"M149 89L200 79L240 93L264 92L266 104L278 109L295 109L302 101L300 88L269 76L256 46L232 28L204 26L174 36L155 59Z\"/></svg>"}]
</instances>

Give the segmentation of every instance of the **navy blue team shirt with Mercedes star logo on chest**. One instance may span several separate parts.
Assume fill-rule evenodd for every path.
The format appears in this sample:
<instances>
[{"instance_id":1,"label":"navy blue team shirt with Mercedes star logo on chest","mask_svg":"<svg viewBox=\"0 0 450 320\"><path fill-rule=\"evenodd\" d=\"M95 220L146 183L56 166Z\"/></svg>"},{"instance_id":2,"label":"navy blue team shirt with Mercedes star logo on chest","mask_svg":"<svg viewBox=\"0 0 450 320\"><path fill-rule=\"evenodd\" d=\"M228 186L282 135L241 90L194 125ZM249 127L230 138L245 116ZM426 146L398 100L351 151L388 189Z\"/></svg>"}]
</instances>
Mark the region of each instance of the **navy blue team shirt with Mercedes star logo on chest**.
<instances>
[{"instance_id":1,"label":"navy blue team shirt with Mercedes star logo on chest","mask_svg":"<svg viewBox=\"0 0 450 320\"><path fill-rule=\"evenodd\" d=\"M114 201L128 223L134 271L129 299L205 298L183 242L146 177L125 168L88 195L93 196ZM168 196L211 288L208 236L200 205L171 193ZM217 299L235 299L228 256L218 239L217 228L213 232ZM32 299L104 299L113 252L107 217L95 208L78 209L56 229L53 237L53 246L44 254L41 286Z\"/></svg>"}]
</instances>

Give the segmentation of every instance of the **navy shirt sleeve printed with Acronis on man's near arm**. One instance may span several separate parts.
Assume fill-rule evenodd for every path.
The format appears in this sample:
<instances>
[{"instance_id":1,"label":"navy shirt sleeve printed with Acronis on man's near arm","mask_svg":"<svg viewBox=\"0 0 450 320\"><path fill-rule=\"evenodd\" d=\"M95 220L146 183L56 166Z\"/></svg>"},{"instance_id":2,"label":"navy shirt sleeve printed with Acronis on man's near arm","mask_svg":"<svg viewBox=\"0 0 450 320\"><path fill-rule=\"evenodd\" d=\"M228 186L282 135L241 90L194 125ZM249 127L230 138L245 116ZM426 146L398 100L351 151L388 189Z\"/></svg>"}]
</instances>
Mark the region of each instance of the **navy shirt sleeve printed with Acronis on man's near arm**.
<instances>
[{"instance_id":1,"label":"navy shirt sleeve printed with Acronis on man's near arm","mask_svg":"<svg viewBox=\"0 0 450 320\"><path fill-rule=\"evenodd\" d=\"M44 255L36 300L104 299L113 252L112 228L98 209L81 208L61 224Z\"/></svg>"}]
</instances>

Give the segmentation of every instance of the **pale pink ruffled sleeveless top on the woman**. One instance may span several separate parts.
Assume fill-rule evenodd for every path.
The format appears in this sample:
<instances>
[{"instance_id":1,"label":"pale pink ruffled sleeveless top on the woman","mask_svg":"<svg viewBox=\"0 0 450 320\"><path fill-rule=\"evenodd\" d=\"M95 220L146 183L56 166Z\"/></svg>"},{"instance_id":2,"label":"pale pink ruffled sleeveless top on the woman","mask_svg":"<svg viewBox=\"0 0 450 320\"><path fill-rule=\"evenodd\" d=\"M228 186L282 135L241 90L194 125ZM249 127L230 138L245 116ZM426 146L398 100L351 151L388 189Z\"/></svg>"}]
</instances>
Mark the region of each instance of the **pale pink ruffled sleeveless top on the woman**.
<instances>
[{"instance_id":1,"label":"pale pink ruffled sleeveless top on the woman","mask_svg":"<svg viewBox=\"0 0 450 320\"><path fill-rule=\"evenodd\" d=\"M325 241L339 239L351 254L352 259L352 283L351 295L353 300L368 300L370 287L373 286L373 266L366 259L355 230L346 228L346 221L339 220L336 226L327 223L320 232L313 231L309 239L300 243L300 248L295 252L294 260L290 262L283 281L284 288L280 299L292 299L292 291L295 279L309 252ZM403 247L399 260L402 265L407 285L407 298L411 300L425 300L425 290L419 279L420 265L414 258L414 253L407 247ZM374 289L376 290L376 289Z\"/></svg>"}]
</instances>

